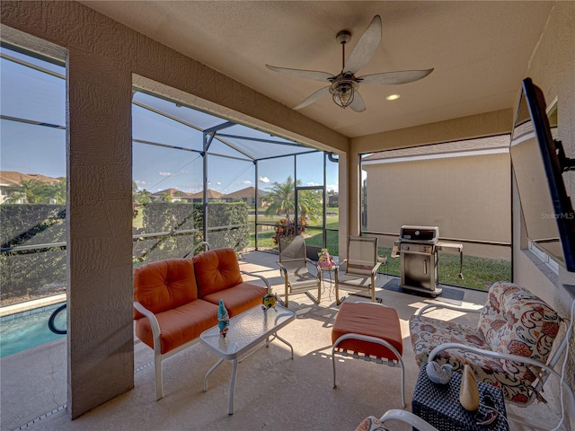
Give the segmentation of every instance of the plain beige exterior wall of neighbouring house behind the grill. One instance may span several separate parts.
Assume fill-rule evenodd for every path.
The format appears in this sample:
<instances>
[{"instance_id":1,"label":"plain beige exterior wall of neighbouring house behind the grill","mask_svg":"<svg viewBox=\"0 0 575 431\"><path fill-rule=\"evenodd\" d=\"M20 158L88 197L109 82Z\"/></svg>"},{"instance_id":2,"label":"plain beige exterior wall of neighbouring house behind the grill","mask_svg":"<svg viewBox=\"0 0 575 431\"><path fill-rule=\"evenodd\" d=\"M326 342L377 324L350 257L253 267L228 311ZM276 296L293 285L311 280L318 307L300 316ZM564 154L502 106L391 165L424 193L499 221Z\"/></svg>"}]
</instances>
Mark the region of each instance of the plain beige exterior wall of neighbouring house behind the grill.
<instances>
[{"instance_id":1,"label":"plain beige exterior wall of neighbouring house behind the grill","mask_svg":"<svg viewBox=\"0 0 575 431\"><path fill-rule=\"evenodd\" d=\"M438 226L441 237L511 242L509 154L364 165L367 230ZM391 246L397 238L382 241ZM465 254L510 259L507 247L464 244Z\"/></svg>"}]
</instances>

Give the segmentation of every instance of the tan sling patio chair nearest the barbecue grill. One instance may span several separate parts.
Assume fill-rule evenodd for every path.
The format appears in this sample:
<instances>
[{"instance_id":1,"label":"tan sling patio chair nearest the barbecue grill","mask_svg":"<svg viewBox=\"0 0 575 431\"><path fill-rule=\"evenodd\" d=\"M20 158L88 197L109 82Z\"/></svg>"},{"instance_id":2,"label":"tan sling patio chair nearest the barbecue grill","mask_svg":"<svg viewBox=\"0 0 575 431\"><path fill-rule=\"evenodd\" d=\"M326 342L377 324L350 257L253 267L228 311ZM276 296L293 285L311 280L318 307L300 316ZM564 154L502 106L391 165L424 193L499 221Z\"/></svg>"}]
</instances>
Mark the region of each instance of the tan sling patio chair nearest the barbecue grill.
<instances>
[{"instance_id":1,"label":"tan sling patio chair nearest the barbecue grill","mask_svg":"<svg viewBox=\"0 0 575 431\"><path fill-rule=\"evenodd\" d=\"M377 238L349 236L348 257L335 270L335 301L339 305L340 287L367 292L353 293L376 302L377 268L381 263L377 259Z\"/></svg>"}]
</instances>

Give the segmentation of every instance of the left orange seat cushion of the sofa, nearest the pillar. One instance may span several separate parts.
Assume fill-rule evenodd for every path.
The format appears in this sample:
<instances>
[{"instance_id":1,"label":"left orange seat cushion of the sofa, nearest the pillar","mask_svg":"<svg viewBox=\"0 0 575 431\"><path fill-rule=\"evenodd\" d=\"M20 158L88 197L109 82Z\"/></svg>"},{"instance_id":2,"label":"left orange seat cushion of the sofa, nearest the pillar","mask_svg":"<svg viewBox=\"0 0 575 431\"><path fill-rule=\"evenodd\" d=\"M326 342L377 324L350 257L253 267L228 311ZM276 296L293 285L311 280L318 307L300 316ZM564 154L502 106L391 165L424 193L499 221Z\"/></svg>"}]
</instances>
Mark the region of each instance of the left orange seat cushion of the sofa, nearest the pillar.
<instances>
[{"instance_id":1,"label":"left orange seat cushion of the sofa, nearest the pillar","mask_svg":"<svg viewBox=\"0 0 575 431\"><path fill-rule=\"evenodd\" d=\"M199 335L217 325L217 305L197 299L172 310L158 312L155 318L160 325L162 354L199 338ZM138 339L154 348L154 336L150 322L145 318L136 321Z\"/></svg>"}]
</instances>

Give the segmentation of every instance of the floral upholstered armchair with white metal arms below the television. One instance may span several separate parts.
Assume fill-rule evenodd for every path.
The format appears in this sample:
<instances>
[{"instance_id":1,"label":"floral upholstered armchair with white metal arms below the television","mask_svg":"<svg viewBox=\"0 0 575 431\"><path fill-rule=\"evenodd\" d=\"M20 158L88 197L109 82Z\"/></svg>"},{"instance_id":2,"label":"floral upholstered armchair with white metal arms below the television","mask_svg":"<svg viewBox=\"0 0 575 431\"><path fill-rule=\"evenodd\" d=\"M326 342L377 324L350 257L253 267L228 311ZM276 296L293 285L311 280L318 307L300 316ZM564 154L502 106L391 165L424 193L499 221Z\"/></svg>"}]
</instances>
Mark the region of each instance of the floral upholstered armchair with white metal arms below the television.
<instances>
[{"instance_id":1,"label":"floral upholstered armchair with white metal arms below the television","mask_svg":"<svg viewBox=\"0 0 575 431\"><path fill-rule=\"evenodd\" d=\"M478 381L500 387L506 400L524 407L543 400L543 384L568 344L563 339L552 355L553 341L564 321L547 303L524 287L498 282L491 286L476 328L453 321L411 316L411 344L418 365L435 360L461 372L471 365ZM446 308L461 310L456 307ZM563 381L562 381L563 384ZM563 384L573 405L572 391Z\"/></svg>"}]
</instances>

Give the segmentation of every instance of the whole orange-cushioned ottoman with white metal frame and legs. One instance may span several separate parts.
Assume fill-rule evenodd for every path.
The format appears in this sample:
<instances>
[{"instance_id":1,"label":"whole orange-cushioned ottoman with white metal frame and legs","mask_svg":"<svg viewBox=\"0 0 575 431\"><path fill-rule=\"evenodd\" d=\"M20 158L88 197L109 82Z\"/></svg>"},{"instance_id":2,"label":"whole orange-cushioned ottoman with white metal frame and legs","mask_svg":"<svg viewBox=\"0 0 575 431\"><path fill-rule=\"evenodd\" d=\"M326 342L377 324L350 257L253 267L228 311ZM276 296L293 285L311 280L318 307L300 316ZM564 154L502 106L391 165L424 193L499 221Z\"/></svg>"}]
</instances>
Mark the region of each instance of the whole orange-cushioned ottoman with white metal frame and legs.
<instances>
[{"instance_id":1,"label":"whole orange-cushioned ottoman with white metal frame and legs","mask_svg":"<svg viewBox=\"0 0 575 431\"><path fill-rule=\"evenodd\" d=\"M362 358L402 369L402 405L405 407L405 369L399 316L381 303L342 303L332 328L333 387L335 355ZM351 353L349 353L351 352Z\"/></svg>"}]
</instances>

